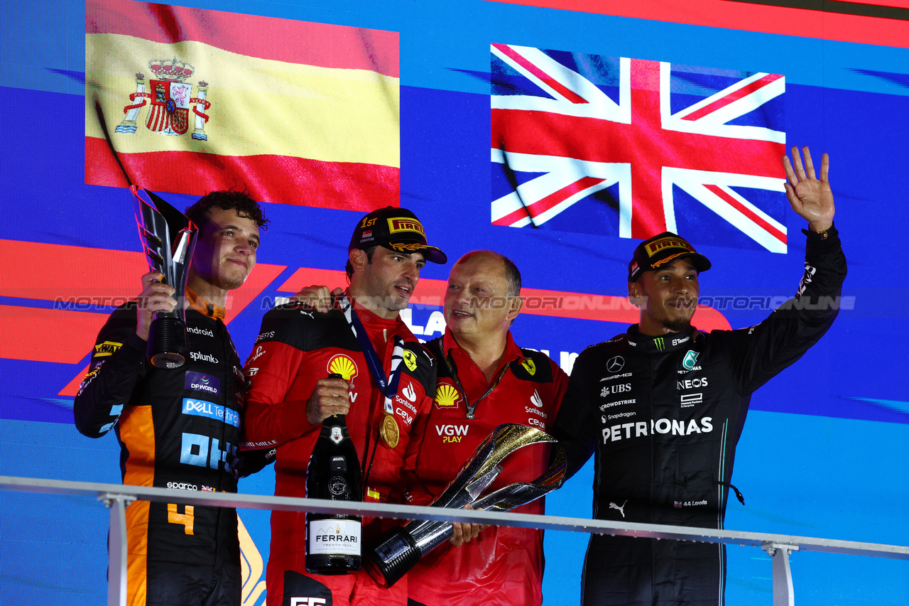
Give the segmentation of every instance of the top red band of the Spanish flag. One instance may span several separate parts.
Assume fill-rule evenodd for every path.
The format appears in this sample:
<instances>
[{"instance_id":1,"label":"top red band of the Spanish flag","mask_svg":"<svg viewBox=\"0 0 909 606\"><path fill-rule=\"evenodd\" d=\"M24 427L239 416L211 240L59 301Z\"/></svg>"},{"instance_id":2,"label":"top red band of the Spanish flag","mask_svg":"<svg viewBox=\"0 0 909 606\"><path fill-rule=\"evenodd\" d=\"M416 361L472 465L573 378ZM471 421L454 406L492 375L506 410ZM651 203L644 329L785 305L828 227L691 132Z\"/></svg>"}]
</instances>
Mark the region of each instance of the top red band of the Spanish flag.
<instances>
[{"instance_id":1,"label":"top red band of the Spanish flag","mask_svg":"<svg viewBox=\"0 0 909 606\"><path fill-rule=\"evenodd\" d=\"M262 59L400 75L398 33L377 29L183 6L87 0L85 33L132 35L161 44L194 40Z\"/></svg>"}]
</instances>

